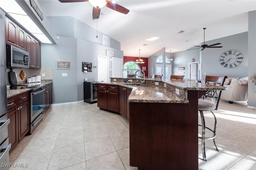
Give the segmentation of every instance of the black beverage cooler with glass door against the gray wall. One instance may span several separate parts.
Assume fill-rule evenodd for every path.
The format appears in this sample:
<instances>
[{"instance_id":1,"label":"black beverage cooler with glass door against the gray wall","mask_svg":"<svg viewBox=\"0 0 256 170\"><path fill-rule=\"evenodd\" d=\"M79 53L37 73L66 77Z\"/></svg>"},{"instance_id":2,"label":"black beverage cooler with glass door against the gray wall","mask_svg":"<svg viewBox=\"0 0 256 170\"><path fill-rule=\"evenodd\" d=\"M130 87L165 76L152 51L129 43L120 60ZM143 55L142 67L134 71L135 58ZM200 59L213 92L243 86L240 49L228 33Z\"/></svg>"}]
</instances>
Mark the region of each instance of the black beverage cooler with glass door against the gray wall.
<instances>
[{"instance_id":1,"label":"black beverage cooler with glass door against the gray wall","mask_svg":"<svg viewBox=\"0 0 256 170\"><path fill-rule=\"evenodd\" d=\"M84 102L97 103L97 82L84 82Z\"/></svg>"}]
</instances>

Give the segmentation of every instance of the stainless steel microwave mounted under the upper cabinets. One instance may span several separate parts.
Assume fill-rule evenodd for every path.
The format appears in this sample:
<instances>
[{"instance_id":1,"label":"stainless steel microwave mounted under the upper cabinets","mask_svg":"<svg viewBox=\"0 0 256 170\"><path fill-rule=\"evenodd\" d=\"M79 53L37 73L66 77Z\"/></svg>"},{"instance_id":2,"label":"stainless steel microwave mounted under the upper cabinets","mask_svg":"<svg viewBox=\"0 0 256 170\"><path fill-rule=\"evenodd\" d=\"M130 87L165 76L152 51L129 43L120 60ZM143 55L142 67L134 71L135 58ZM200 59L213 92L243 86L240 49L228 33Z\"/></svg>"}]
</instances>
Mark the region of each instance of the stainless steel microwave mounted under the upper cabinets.
<instances>
[{"instance_id":1,"label":"stainless steel microwave mounted under the upper cabinets","mask_svg":"<svg viewBox=\"0 0 256 170\"><path fill-rule=\"evenodd\" d=\"M28 55L28 51L6 44L6 67L29 68Z\"/></svg>"}]
</instances>

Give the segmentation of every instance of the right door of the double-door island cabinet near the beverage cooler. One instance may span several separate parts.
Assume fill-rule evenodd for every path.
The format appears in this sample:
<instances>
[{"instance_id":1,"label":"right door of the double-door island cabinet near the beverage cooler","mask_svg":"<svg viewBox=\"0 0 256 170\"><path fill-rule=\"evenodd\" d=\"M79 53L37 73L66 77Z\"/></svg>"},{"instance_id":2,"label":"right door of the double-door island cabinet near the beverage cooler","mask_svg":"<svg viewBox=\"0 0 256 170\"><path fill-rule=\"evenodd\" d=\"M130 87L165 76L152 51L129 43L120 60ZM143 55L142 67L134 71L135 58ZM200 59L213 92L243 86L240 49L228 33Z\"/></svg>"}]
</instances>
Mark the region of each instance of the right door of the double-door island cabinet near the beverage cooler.
<instances>
[{"instance_id":1,"label":"right door of the double-door island cabinet near the beverage cooler","mask_svg":"<svg viewBox=\"0 0 256 170\"><path fill-rule=\"evenodd\" d=\"M108 91L108 110L119 113L119 92Z\"/></svg>"}]
</instances>

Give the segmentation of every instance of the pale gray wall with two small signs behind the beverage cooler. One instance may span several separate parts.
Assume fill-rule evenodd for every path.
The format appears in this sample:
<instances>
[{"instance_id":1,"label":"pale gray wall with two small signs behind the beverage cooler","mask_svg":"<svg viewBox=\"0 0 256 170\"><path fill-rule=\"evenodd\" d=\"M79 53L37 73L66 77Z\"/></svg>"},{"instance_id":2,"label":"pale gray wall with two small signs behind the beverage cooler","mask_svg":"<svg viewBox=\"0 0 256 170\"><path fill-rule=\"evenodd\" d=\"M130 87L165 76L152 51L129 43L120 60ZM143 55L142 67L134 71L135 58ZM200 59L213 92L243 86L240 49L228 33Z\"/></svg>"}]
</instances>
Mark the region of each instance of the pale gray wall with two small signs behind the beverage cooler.
<instances>
[{"instance_id":1,"label":"pale gray wall with two small signs behind the beverage cooler","mask_svg":"<svg viewBox=\"0 0 256 170\"><path fill-rule=\"evenodd\" d=\"M123 58L120 42L110 38L111 47L103 46L101 32L98 32L97 39L94 28L71 17L50 17L49 22L59 39L56 45L41 45L41 60L42 67L53 68L53 103L82 101L84 78L88 81L98 79L97 68L93 68L92 72L82 72L82 62L89 62L97 67L97 57L98 55L106 56L106 49L115 51L115 57ZM95 38L92 36L93 32L95 32ZM70 61L71 69L56 69L56 61ZM112 61L109 61L109 67L112 67ZM68 76L62 77L62 73L67 73ZM111 71L109 76L112 76Z\"/></svg>"}]
</instances>

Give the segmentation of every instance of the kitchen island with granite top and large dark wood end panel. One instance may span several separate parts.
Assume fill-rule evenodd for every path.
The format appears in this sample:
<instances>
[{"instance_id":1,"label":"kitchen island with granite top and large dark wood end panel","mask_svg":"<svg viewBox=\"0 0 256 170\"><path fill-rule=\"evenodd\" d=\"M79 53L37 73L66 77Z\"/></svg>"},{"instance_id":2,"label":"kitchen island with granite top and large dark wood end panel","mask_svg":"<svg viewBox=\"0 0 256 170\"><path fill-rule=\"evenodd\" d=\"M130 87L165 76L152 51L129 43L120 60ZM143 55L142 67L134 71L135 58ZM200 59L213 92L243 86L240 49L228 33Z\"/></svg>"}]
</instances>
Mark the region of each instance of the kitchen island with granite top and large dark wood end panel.
<instances>
[{"instance_id":1,"label":"kitchen island with granite top and large dark wood end panel","mask_svg":"<svg viewBox=\"0 0 256 170\"><path fill-rule=\"evenodd\" d=\"M130 166L198 170L198 99L225 87L184 80L145 83L133 88L128 98ZM129 83L111 78L110 84Z\"/></svg>"}]
</instances>

